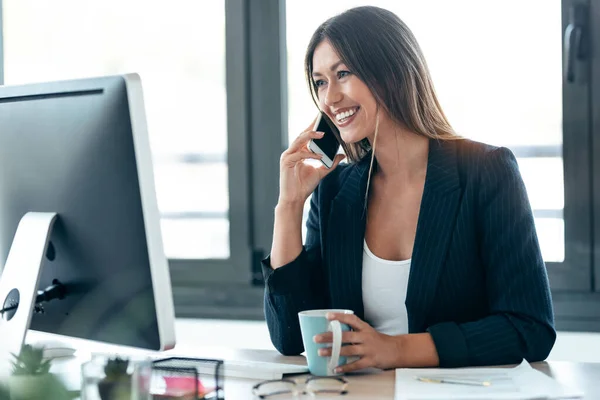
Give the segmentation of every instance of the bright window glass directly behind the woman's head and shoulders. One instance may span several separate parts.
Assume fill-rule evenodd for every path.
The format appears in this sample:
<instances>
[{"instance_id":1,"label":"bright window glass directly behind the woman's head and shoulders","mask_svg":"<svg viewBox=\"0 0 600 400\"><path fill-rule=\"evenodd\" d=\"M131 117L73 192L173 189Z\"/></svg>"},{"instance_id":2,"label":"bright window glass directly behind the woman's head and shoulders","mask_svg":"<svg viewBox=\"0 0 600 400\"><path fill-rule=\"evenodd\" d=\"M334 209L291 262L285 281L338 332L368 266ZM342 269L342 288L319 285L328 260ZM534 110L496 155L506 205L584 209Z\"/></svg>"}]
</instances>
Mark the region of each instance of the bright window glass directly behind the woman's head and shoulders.
<instances>
[{"instance_id":1,"label":"bright window glass directly behind the woman's head and shoulders","mask_svg":"<svg viewBox=\"0 0 600 400\"><path fill-rule=\"evenodd\" d=\"M562 262L561 1L288 1L290 141L317 111L303 80L310 36L329 16L366 3L396 13L413 31L455 130L512 149L544 259Z\"/></svg>"}]
</instances>

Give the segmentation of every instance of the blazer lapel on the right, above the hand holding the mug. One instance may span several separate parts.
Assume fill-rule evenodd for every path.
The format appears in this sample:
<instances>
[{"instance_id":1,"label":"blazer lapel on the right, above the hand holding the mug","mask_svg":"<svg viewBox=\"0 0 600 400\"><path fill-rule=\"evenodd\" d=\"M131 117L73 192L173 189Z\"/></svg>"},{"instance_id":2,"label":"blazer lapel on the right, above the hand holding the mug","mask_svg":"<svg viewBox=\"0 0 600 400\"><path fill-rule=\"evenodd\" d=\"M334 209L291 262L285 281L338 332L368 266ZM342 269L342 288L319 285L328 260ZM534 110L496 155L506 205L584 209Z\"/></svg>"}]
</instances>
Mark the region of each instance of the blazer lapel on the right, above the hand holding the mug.
<instances>
[{"instance_id":1,"label":"blazer lapel on the right, above the hand holding the mug","mask_svg":"<svg viewBox=\"0 0 600 400\"><path fill-rule=\"evenodd\" d=\"M454 141L429 142L425 188L413 246L406 308L409 331L422 332L456 223L461 191Z\"/></svg>"}]
</instances>

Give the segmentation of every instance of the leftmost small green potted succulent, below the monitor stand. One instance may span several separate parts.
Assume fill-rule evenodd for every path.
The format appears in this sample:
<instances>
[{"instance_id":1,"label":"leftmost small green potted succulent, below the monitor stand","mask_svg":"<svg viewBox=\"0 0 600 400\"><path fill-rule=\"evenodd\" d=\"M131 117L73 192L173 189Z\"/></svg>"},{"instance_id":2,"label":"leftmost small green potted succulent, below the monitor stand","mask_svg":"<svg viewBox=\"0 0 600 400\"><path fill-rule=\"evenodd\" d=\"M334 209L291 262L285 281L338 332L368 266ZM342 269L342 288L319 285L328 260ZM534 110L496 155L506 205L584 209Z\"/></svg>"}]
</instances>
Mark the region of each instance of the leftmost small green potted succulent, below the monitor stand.
<instances>
[{"instance_id":1,"label":"leftmost small green potted succulent, below the monitor stand","mask_svg":"<svg viewBox=\"0 0 600 400\"><path fill-rule=\"evenodd\" d=\"M69 392L54 374L51 360L44 359L44 348L24 345L13 354L13 371L8 386L11 400L70 399Z\"/></svg>"}]
</instances>

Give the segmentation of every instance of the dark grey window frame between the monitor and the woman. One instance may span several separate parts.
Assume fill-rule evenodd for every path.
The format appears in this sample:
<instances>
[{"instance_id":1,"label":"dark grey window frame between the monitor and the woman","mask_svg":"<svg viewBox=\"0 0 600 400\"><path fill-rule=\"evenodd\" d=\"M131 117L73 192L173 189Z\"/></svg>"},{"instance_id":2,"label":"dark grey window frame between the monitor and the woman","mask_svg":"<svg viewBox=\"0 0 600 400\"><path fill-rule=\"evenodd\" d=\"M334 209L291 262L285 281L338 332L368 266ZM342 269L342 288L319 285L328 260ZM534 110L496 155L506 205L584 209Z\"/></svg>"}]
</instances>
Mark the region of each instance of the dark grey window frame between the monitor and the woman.
<instances>
[{"instance_id":1,"label":"dark grey window frame between the monitor and the woman","mask_svg":"<svg viewBox=\"0 0 600 400\"><path fill-rule=\"evenodd\" d=\"M226 0L225 7L231 258L169 266L178 317L262 319L260 260L271 247L287 138L285 1Z\"/></svg>"}]
</instances>

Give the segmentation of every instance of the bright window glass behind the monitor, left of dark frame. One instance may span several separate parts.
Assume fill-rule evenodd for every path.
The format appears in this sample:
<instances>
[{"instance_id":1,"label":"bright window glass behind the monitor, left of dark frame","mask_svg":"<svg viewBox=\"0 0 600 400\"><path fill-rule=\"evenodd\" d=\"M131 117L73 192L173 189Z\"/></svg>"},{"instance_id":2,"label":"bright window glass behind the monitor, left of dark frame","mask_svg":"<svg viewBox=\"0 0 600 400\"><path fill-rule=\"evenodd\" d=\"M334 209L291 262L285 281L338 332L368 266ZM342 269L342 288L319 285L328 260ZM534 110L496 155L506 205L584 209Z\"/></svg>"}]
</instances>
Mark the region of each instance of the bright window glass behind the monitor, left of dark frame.
<instances>
[{"instance_id":1,"label":"bright window glass behind the monitor, left of dark frame","mask_svg":"<svg viewBox=\"0 0 600 400\"><path fill-rule=\"evenodd\" d=\"M137 72L165 253L227 259L225 0L3 2L4 82Z\"/></svg>"}]
</instances>

